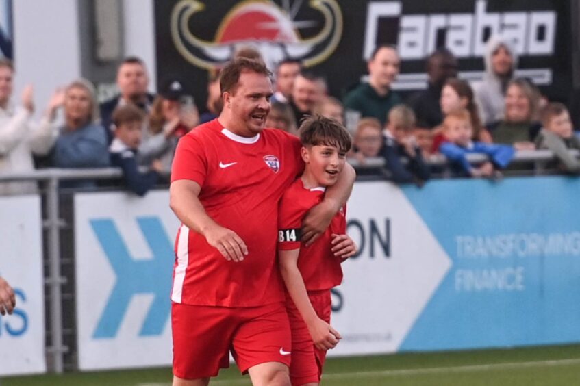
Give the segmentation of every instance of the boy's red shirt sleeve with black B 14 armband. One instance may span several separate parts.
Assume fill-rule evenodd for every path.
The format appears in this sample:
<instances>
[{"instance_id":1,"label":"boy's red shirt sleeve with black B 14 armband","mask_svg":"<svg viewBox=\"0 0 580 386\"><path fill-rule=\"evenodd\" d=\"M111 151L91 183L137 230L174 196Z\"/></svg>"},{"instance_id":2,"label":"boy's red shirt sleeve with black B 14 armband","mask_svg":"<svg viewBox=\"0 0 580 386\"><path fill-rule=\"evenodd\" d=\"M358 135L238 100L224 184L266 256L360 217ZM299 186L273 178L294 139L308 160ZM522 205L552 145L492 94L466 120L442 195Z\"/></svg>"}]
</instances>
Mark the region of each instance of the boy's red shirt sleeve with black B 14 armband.
<instances>
[{"instance_id":1,"label":"boy's red shirt sleeve with black B 14 armband","mask_svg":"<svg viewBox=\"0 0 580 386\"><path fill-rule=\"evenodd\" d=\"M299 200L292 197L292 185L283 194L278 209L278 249L294 250L300 248L302 218L306 210Z\"/></svg>"}]
</instances>

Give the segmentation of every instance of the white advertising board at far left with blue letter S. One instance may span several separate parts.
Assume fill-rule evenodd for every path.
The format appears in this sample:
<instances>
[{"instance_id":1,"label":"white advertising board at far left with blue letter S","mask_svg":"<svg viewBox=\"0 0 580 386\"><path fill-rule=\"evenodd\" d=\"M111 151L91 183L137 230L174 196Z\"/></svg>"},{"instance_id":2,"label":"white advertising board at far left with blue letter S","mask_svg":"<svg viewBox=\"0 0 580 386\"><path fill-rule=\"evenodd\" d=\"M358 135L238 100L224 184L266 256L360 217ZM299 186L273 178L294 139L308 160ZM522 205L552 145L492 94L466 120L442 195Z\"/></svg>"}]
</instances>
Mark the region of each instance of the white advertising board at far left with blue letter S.
<instances>
[{"instance_id":1,"label":"white advertising board at far left with blue letter S","mask_svg":"<svg viewBox=\"0 0 580 386\"><path fill-rule=\"evenodd\" d=\"M0 276L16 309L0 316L0 376L47 371L39 196L0 197Z\"/></svg>"}]
</instances>

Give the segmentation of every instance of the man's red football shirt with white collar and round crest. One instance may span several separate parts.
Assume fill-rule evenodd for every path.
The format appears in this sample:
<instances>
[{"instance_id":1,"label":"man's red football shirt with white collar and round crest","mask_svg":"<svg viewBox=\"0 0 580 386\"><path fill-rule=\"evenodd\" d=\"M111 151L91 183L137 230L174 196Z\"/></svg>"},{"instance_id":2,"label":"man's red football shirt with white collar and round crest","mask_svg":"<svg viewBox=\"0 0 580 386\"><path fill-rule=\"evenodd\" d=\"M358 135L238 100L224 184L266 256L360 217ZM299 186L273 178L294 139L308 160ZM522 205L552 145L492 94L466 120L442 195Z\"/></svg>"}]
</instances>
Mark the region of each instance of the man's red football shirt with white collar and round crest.
<instances>
[{"instance_id":1,"label":"man's red football shirt with white collar and round crest","mask_svg":"<svg viewBox=\"0 0 580 386\"><path fill-rule=\"evenodd\" d=\"M300 147L284 131L264 129L244 138L217 119L179 140L171 181L199 183L207 214L236 232L249 254L240 263L227 261L182 224L175 242L174 302L254 307L283 300L276 264L278 202L303 168Z\"/></svg>"}]
</instances>

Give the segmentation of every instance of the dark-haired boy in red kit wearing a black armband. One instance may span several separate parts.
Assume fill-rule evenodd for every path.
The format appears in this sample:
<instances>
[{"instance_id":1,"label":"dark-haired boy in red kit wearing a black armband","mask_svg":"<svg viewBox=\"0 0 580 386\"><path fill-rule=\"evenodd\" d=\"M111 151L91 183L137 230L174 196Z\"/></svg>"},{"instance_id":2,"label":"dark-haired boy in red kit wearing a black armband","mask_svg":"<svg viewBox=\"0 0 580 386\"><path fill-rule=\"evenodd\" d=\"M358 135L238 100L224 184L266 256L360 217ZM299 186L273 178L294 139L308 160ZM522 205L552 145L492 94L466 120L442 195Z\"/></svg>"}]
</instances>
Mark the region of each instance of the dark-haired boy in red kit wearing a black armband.
<instances>
[{"instance_id":1,"label":"dark-haired boy in red kit wearing a black armband","mask_svg":"<svg viewBox=\"0 0 580 386\"><path fill-rule=\"evenodd\" d=\"M330 289L342 281L340 263L356 253L346 235L346 205L310 246L301 246L300 227L307 211L320 203L344 168L351 137L338 121L316 116L300 127L303 175L284 192L278 216L278 256L288 294L292 329L292 385L318 385L326 351L340 334L330 326Z\"/></svg>"}]
</instances>

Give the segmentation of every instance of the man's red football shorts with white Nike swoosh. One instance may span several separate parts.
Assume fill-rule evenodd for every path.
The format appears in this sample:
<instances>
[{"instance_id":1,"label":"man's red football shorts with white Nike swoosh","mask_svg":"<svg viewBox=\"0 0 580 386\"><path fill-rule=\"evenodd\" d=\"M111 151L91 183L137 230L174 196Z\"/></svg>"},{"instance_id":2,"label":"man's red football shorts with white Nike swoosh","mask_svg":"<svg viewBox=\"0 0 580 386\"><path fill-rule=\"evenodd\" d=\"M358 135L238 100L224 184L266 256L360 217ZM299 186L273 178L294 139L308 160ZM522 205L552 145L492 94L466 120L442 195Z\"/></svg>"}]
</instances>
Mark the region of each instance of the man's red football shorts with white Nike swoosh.
<instances>
[{"instance_id":1,"label":"man's red football shorts with white Nike swoosh","mask_svg":"<svg viewBox=\"0 0 580 386\"><path fill-rule=\"evenodd\" d=\"M290 325L284 303L214 307L172 303L173 374L183 379L216 376L229 367L229 352L245 374L255 365L290 366Z\"/></svg>"}]
</instances>

